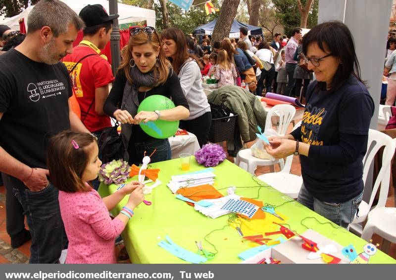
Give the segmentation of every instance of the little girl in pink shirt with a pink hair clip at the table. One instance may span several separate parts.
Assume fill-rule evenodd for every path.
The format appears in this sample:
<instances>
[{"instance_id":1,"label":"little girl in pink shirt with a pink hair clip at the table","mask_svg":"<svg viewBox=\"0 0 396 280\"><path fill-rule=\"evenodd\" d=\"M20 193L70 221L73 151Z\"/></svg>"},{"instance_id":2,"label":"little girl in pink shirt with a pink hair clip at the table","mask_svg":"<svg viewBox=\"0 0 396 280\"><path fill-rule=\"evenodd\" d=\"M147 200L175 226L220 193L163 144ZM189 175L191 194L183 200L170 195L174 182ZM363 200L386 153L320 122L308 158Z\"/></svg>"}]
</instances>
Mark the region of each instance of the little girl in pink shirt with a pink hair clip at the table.
<instances>
[{"instance_id":1,"label":"little girl in pink shirt with a pink hair clip at the table","mask_svg":"<svg viewBox=\"0 0 396 280\"><path fill-rule=\"evenodd\" d=\"M114 241L144 200L143 185L131 182L102 200L87 183L98 177L101 165L97 141L88 133L55 135L47 160L51 181L59 189L60 214L69 240L66 263L115 263ZM108 211L128 194L127 203L111 220Z\"/></svg>"}]
</instances>

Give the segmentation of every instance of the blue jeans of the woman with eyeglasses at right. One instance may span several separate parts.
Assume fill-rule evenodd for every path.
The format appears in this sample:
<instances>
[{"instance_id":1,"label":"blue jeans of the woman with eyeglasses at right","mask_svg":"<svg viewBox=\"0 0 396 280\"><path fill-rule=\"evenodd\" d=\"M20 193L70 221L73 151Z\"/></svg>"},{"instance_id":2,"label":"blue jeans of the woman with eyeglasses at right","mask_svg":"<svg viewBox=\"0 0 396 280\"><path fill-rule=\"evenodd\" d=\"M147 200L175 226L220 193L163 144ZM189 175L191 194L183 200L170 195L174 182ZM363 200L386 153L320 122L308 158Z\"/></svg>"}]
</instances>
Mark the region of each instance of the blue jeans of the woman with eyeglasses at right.
<instances>
[{"instance_id":1,"label":"blue jeans of the woman with eyeglasses at right","mask_svg":"<svg viewBox=\"0 0 396 280\"><path fill-rule=\"evenodd\" d=\"M314 198L302 184L297 201L333 223L347 228L353 221L362 198L363 192L343 203L325 202Z\"/></svg>"}]
</instances>

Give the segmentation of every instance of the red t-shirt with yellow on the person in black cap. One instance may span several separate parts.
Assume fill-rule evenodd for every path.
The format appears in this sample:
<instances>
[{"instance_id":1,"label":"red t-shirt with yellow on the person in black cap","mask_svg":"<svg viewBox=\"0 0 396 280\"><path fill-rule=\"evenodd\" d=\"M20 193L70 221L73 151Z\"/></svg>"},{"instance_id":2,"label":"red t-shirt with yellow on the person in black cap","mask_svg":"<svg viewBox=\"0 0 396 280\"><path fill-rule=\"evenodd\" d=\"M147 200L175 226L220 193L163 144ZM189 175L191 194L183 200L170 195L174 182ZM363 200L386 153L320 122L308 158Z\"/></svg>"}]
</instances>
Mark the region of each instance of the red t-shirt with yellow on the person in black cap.
<instances>
[{"instance_id":1,"label":"red t-shirt with yellow on the person in black cap","mask_svg":"<svg viewBox=\"0 0 396 280\"><path fill-rule=\"evenodd\" d=\"M96 53L88 46L76 46L73 53L63 58L63 63L70 71L81 58L90 53ZM89 131L94 132L111 126L110 118L99 116L95 111L95 89L114 81L110 64L99 55L84 58L70 73L72 88L81 108L81 120ZM92 101L94 103L90 107ZM88 115L86 112L88 111Z\"/></svg>"}]
</instances>

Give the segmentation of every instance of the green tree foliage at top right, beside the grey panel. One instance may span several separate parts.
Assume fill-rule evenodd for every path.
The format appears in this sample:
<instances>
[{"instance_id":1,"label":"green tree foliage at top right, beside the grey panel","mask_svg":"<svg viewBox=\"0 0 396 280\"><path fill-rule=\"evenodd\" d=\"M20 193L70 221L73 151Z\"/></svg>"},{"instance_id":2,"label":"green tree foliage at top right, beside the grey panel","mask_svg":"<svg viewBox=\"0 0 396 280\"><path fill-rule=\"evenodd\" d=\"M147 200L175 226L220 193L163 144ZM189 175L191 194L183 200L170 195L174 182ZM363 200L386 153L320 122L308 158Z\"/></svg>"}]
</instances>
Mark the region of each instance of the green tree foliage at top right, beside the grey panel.
<instances>
[{"instance_id":1,"label":"green tree foliage at top right, beside the grey panel","mask_svg":"<svg viewBox=\"0 0 396 280\"><path fill-rule=\"evenodd\" d=\"M301 0L305 6L307 0ZM271 0L275 9L274 16L281 22L285 33L290 35L292 29L300 26L301 15L298 10L297 0ZM308 15L307 28L312 28L318 22L318 0L314 1Z\"/></svg>"}]
</instances>

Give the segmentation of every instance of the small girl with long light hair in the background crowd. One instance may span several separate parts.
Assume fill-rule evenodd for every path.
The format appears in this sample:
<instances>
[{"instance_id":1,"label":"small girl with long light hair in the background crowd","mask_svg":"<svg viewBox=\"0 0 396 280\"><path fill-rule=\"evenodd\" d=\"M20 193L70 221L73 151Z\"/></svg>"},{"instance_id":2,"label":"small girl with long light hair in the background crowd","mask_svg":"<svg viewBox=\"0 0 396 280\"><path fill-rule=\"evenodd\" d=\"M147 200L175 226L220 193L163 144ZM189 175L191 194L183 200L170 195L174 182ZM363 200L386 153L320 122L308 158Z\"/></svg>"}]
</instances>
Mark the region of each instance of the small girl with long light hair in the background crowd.
<instances>
[{"instance_id":1,"label":"small girl with long light hair in the background crowd","mask_svg":"<svg viewBox=\"0 0 396 280\"><path fill-rule=\"evenodd\" d=\"M218 80L218 86L234 85L234 79L238 77L235 65L228 61L227 52L222 49L217 54L217 65L214 78Z\"/></svg>"}]
</instances>

